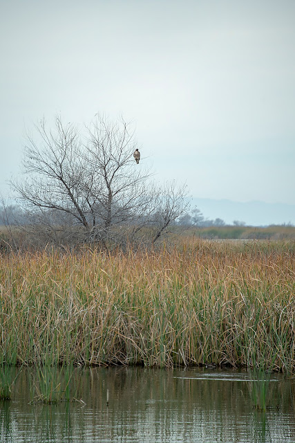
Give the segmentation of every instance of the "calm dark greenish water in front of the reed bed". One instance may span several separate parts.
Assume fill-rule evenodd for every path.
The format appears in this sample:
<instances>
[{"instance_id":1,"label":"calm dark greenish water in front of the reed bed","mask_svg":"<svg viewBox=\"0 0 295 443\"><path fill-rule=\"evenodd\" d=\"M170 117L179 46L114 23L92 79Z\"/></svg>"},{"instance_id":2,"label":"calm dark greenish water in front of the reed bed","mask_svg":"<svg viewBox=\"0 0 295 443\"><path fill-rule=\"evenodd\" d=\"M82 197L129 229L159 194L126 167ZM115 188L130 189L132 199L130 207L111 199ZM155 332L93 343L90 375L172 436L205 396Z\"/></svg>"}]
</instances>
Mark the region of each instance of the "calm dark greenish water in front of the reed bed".
<instances>
[{"instance_id":1,"label":"calm dark greenish water in front of the reed bed","mask_svg":"<svg viewBox=\"0 0 295 443\"><path fill-rule=\"evenodd\" d=\"M295 382L272 375L269 408L251 402L249 374L233 370L77 368L77 401L30 404L34 370L0 402L0 442L295 442ZM106 404L106 392L109 403Z\"/></svg>"}]
</instances>

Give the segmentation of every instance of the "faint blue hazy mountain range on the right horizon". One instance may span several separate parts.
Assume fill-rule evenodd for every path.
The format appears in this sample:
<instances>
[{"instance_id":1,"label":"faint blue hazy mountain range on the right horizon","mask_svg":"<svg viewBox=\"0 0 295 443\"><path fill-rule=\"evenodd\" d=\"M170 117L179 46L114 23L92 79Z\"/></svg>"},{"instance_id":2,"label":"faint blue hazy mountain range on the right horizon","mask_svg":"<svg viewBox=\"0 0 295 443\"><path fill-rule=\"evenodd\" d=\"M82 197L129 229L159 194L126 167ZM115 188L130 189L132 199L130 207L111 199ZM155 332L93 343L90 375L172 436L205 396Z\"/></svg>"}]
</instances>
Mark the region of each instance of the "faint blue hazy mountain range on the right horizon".
<instances>
[{"instance_id":1,"label":"faint blue hazy mountain range on the right horizon","mask_svg":"<svg viewBox=\"0 0 295 443\"><path fill-rule=\"evenodd\" d=\"M234 220L244 221L249 226L267 226L269 224L295 225L295 205L283 203L265 203L265 201L231 201L200 199L194 197L192 208L197 206L205 219L223 219L227 224Z\"/></svg>"}]
</instances>

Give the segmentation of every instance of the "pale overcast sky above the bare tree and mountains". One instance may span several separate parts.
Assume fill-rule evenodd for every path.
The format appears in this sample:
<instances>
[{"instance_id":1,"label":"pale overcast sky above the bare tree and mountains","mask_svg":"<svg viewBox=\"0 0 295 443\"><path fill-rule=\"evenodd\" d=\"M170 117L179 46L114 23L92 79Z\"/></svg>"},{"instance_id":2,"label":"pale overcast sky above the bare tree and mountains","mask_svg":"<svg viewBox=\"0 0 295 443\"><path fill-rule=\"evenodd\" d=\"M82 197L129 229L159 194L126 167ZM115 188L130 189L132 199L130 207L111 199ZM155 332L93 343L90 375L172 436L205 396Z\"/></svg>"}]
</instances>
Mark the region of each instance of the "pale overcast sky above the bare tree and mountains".
<instances>
[{"instance_id":1,"label":"pale overcast sky above the bare tree and mountains","mask_svg":"<svg viewBox=\"0 0 295 443\"><path fill-rule=\"evenodd\" d=\"M294 0L0 0L0 191L24 128L132 121L193 197L295 204Z\"/></svg>"}]
</instances>

